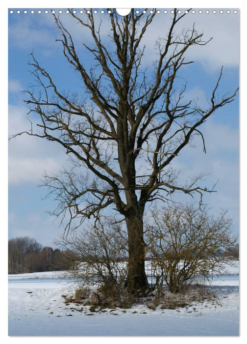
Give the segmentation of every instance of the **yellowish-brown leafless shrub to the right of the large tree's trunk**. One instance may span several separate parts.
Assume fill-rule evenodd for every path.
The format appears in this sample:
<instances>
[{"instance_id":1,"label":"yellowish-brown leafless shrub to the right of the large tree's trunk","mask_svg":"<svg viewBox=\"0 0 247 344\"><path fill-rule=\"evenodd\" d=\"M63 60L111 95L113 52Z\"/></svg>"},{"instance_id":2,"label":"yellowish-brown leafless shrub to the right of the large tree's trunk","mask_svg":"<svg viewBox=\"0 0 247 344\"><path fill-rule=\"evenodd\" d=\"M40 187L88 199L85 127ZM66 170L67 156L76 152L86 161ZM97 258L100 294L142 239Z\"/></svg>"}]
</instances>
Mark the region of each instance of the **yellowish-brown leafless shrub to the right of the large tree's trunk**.
<instances>
[{"instance_id":1,"label":"yellowish-brown leafless shrub to the right of the large tree's trunk","mask_svg":"<svg viewBox=\"0 0 247 344\"><path fill-rule=\"evenodd\" d=\"M205 205L197 208L177 203L154 209L146 241L155 287L162 292L166 283L176 293L202 277L222 274L224 251L236 242L231 225L225 211L214 218Z\"/></svg>"}]
</instances>

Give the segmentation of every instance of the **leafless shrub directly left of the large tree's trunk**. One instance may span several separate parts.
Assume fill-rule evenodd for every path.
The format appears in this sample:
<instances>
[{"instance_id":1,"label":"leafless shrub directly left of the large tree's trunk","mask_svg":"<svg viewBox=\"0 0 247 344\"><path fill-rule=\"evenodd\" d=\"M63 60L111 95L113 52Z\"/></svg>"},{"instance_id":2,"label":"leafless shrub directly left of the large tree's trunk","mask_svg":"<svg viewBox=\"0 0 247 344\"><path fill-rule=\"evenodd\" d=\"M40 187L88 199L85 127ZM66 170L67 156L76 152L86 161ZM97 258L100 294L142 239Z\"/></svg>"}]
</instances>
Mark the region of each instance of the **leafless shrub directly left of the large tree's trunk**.
<instances>
[{"instance_id":1,"label":"leafless shrub directly left of the large tree's trunk","mask_svg":"<svg viewBox=\"0 0 247 344\"><path fill-rule=\"evenodd\" d=\"M81 232L73 231L57 242L72 269L65 278L74 279L84 290L93 289L93 305L130 305L133 296L124 288L127 278L127 239L120 223L98 223Z\"/></svg>"}]
</instances>

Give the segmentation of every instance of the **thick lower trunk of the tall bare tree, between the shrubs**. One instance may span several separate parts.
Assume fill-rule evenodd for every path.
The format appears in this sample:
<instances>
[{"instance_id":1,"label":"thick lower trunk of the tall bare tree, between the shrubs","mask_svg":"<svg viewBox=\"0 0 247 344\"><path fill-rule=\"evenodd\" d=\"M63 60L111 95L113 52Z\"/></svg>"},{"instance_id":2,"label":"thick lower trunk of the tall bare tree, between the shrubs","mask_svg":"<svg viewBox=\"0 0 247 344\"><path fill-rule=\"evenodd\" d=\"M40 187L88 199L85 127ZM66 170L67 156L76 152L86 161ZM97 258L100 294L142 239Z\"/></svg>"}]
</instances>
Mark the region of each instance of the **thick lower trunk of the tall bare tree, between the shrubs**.
<instances>
[{"instance_id":1,"label":"thick lower trunk of the tall bare tree, between the shrubs","mask_svg":"<svg viewBox=\"0 0 247 344\"><path fill-rule=\"evenodd\" d=\"M128 274L125 286L133 293L143 294L148 289L145 273L145 242L141 215L126 218L128 230Z\"/></svg>"}]
</instances>

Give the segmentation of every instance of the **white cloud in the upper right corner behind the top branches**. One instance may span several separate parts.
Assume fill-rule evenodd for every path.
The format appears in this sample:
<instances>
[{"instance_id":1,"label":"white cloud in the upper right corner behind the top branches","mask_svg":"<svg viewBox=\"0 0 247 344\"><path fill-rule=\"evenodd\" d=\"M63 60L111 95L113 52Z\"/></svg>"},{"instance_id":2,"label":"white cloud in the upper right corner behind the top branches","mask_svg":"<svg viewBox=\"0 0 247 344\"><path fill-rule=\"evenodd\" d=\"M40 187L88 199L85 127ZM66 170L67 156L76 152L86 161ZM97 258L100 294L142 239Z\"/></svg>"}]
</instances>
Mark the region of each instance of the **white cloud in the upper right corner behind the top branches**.
<instances>
[{"instance_id":1,"label":"white cloud in the upper right corner behind the top branches","mask_svg":"<svg viewBox=\"0 0 247 344\"><path fill-rule=\"evenodd\" d=\"M208 72L219 70L224 67L237 67L239 64L239 16L233 13L223 15L217 11L217 14L188 13L181 21L178 22L175 33L180 33L183 29L192 29L195 23L195 29L199 33L203 32L202 39L207 41L213 39L205 46L193 46L186 53L187 60L199 61ZM157 15L144 36L146 45L146 55L143 62L145 64L156 59L154 44L157 36L165 38L170 25L172 15Z\"/></svg>"}]
</instances>

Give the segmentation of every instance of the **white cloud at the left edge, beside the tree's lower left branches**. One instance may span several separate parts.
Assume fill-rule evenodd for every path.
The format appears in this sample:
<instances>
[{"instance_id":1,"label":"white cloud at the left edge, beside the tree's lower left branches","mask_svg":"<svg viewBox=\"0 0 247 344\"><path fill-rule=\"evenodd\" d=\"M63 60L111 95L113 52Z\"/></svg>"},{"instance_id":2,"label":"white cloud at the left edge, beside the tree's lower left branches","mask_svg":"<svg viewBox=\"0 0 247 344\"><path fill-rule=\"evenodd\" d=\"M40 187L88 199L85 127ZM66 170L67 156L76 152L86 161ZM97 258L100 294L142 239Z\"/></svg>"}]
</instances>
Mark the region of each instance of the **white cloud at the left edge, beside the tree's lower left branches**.
<instances>
[{"instance_id":1,"label":"white cloud at the left edge, beside the tree's lower left branches","mask_svg":"<svg viewBox=\"0 0 247 344\"><path fill-rule=\"evenodd\" d=\"M30 129L25 106L9 106L9 134ZM34 123L35 125L35 123ZM27 134L9 141L9 185L22 183L38 184L44 171L57 173L68 164L66 155L58 144L32 137Z\"/></svg>"}]
</instances>

